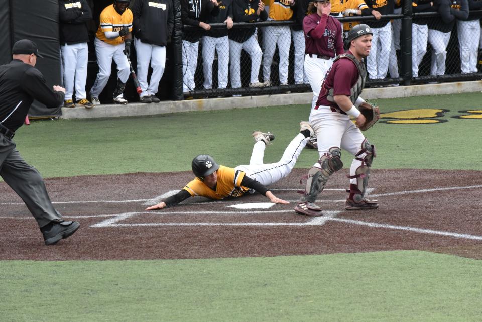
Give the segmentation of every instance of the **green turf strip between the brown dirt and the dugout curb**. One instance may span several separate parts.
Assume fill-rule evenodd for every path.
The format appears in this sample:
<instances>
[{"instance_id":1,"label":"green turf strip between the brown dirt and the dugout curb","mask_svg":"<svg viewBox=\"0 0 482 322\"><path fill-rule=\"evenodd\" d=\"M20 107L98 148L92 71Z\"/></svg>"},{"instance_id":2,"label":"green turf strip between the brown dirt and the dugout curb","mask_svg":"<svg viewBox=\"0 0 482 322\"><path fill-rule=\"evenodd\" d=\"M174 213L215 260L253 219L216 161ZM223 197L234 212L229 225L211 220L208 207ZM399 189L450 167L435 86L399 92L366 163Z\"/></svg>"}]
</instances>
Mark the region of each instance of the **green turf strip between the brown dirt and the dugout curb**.
<instances>
[{"instance_id":1,"label":"green turf strip between the brown dirt and the dugout curb","mask_svg":"<svg viewBox=\"0 0 482 322\"><path fill-rule=\"evenodd\" d=\"M463 109L480 109L480 93L380 99L382 113L437 108L450 112L448 122L430 125L377 124L365 132L377 148L374 168L432 168L481 170L482 120L454 119ZM197 154L211 154L234 167L249 163L253 139L260 129L275 133L265 162L281 157L298 133L308 105L177 113L149 117L101 120L35 121L18 130L15 142L30 164L44 177L131 172L189 170ZM296 165L309 168L318 159L305 150ZM349 167L352 157L343 152Z\"/></svg>"}]
</instances>

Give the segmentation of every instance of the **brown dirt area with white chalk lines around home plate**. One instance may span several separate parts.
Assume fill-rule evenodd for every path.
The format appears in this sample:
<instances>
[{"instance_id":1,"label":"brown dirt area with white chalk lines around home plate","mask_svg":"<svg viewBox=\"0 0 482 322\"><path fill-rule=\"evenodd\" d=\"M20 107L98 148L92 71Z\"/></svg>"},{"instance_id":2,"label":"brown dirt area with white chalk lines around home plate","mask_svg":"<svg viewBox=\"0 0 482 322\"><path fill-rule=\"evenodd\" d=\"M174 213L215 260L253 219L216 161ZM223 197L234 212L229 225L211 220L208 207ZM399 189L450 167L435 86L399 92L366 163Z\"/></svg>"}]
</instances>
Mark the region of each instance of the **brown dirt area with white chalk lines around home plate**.
<instances>
[{"instance_id":1,"label":"brown dirt area with white chalk lines around home plate","mask_svg":"<svg viewBox=\"0 0 482 322\"><path fill-rule=\"evenodd\" d=\"M347 170L317 201L323 217L294 213L296 169L272 186L290 205L259 194L225 201L193 199L146 212L191 179L188 172L80 176L46 180L56 208L81 227L44 246L22 200L0 183L0 260L175 259L277 256L420 249L482 258L479 171L374 170L371 198L380 208L344 211ZM270 206L271 205L271 206ZM234 207L233 207L234 206ZM238 207L244 206L245 209ZM270 207L268 207L270 206ZM265 208L263 208L265 207Z\"/></svg>"}]
</instances>

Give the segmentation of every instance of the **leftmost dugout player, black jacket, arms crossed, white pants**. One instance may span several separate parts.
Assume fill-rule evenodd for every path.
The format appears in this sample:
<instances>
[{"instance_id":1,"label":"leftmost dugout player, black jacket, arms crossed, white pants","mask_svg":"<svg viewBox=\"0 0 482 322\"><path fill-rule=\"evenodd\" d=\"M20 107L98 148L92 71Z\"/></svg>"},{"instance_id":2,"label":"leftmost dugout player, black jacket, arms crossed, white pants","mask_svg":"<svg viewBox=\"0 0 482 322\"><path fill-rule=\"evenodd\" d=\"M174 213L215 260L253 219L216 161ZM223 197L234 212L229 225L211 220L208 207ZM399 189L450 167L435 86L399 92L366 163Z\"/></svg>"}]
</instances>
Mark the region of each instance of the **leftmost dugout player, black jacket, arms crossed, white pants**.
<instances>
[{"instance_id":1,"label":"leftmost dugout player, black jacket, arms crossed, white pants","mask_svg":"<svg viewBox=\"0 0 482 322\"><path fill-rule=\"evenodd\" d=\"M64 70L66 108L84 106L93 108L87 99L85 82L87 81L87 59L89 34L87 21L92 19L92 11L86 0L60 0L60 50ZM75 103L72 100L75 84Z\"/></svg>"}]
</instances>

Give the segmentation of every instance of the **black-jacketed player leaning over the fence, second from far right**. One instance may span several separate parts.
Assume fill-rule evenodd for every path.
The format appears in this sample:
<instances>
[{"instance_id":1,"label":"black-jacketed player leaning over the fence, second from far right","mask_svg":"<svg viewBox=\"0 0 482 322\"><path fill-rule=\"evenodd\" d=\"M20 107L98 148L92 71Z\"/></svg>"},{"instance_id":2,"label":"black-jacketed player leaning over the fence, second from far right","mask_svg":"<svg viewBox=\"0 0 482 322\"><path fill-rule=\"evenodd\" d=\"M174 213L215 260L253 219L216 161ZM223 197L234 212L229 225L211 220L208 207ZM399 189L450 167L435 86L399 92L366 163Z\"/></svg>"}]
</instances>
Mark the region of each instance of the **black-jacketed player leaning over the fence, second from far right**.
<instances>
[{"instance_id":1,"label":"black-jacketed player leaning over the fence, second from far right","mask_svg":"<svg viewBox=\"0 0 482 322\"><path fill-rule=\"evenodd\" d=\"M440 18L432 18L428 22L428 42L432 46L432 63L430 75L445 74L445 59L447 45L450 40L456 19L467 19L467 0L437 0L433 10L440 14Z\"/></svg>"}]
</instances>

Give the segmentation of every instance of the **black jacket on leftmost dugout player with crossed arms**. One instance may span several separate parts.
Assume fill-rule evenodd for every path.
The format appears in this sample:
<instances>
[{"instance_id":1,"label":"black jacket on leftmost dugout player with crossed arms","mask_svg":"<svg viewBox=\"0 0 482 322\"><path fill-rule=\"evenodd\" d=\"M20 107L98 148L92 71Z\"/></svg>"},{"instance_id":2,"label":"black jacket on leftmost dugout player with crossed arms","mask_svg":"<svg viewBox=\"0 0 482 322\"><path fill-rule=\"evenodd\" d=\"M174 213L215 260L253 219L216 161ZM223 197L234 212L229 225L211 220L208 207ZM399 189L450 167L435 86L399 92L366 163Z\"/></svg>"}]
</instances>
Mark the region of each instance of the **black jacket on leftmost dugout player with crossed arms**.
<instances>
[{"instance_id":1,"label":"black jacket on leftmost dugout player with crossed arms","mask_svg":"<svg viewBox=\"0 0 482 322\"><path fill-rule=\"evenodd\" d=\"M77 7L80 3L80 8ZM92 19L87 0L59 0L60 44L79 44L89 41L87 21Z\"/></svg>"}]
</instances>

